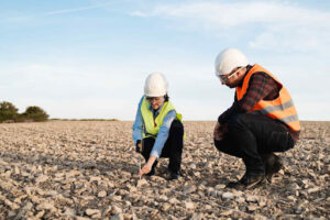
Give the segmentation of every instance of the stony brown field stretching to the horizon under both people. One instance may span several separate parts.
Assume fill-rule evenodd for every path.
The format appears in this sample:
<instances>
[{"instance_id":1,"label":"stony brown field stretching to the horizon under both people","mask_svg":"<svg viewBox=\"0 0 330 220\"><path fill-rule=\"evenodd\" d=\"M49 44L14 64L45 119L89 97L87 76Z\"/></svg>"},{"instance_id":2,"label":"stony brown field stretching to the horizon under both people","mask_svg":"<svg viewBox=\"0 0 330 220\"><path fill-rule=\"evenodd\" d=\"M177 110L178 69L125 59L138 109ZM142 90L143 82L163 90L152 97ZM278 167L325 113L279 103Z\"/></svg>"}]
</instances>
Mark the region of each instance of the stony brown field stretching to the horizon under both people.
<instances>
[{"instance_id":1,"label":"stony brown field stretching to the horizon under both people","mask_svg":"<svg viewBox=\"0 0 330 220\"><path fill-rule=\"evenodd\" d=\"M0 124L0 219L329 219L330 122L304 122L273 183L224 189L242 162L217 152L215 122L185 122L184 177L138 177L132 122Z\"/></svg>"}]
</instances>

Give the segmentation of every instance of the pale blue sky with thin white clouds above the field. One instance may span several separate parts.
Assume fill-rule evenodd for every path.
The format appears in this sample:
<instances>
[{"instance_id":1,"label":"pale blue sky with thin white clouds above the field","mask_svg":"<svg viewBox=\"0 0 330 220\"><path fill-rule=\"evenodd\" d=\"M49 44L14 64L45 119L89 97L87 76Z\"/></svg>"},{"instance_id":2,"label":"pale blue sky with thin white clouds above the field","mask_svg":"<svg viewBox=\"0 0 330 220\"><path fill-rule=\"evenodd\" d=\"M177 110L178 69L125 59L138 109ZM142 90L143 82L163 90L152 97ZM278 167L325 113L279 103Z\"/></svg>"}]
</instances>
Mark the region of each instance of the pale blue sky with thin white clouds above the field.
<instances>
[{"instance_id":1,"label":"pale blue sky with thin white clouds above the field","mask_svg":"<svg viewBox=\"0 0 330 220\"><path fill-rule=\"evenodd\" d=\"M184 120L217 120L234 96L215 76L227 47L272 72L301 120L330 120L328 0L0 0L0 101L133 120L157 72Z\"/></svg>"}]
</instances>

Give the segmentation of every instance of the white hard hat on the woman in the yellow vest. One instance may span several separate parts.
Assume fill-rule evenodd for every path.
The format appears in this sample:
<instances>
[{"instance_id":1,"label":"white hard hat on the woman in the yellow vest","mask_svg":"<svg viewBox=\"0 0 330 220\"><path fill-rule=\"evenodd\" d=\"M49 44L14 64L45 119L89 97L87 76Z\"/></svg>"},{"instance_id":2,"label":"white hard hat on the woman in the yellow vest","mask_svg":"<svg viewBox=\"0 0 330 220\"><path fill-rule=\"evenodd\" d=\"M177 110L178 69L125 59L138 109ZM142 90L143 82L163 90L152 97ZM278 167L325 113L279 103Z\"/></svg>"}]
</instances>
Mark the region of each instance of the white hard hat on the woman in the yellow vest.
<instances>
[{"instance_id":1,"label":"white hard hat on the woman in the yellow vest","mask_svg":"<svg viewBox=\"0 0 330 220\"><path fill-rule=\"evenodd\" d=\"M167 81L163 74L148 75L144 84L144 95L147 97L162 97L167 94Z\"/></svg>"}]
</instances>

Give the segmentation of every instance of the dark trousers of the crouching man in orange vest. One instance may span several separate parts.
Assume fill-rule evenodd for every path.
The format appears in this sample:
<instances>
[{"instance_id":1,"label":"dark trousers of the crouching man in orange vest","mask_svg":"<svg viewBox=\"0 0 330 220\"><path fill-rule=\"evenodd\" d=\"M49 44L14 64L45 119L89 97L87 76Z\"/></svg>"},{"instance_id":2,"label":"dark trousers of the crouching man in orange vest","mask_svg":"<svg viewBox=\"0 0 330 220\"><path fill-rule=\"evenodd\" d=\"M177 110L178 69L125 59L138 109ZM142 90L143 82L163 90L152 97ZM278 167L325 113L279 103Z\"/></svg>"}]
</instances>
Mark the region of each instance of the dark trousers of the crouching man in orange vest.
<instances>
[{"instance_id":1,"label":"dark trousers of the crouching man in orange vest","mask_svg":"<svg viewBox=\"0 0 330 220\"><path fill-rule=\"evenodd\" d=\"M265 173L263 157L273 152L285 152L295 141L279 121L263 114L234 114L228 121L228 133L215 145L223 153L241 157L246 174Z\"/></svg>"}]
</instances>

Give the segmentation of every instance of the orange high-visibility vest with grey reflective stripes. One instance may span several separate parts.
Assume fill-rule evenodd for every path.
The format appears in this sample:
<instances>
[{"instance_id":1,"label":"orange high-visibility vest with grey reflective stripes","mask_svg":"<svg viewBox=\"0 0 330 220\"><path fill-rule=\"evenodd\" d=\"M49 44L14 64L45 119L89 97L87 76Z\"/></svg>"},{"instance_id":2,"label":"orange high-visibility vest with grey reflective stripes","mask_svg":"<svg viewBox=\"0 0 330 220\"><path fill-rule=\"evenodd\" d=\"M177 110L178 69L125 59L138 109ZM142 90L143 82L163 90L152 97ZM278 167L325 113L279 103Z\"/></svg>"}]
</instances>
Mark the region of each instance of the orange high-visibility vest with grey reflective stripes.
<instances>
[{"instance_id":1,"label":"orange high-visibility vest with grey reflective stripes","mask_svg":"<svg viewBox=\"0 0 330 220\"><path fill-rule=\"evenodd\" d=\"M276 82L280 85L279 96L274 100L260 100L249 112L262 113L272 119L279 120L287 124L292 130L299 131L300 123L297 114L297 110L293 102L293 99L287 89L273 76L268 70L264 69L257 64L254 64L250 72L246 74L243 80L242 87L237 87L238 100L241 100L249 88L249 81L251 76L257 72L263 72L271 76Z\"/></svg>"}]
</instances>

